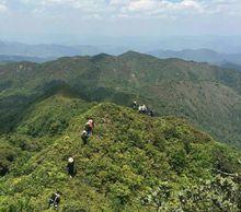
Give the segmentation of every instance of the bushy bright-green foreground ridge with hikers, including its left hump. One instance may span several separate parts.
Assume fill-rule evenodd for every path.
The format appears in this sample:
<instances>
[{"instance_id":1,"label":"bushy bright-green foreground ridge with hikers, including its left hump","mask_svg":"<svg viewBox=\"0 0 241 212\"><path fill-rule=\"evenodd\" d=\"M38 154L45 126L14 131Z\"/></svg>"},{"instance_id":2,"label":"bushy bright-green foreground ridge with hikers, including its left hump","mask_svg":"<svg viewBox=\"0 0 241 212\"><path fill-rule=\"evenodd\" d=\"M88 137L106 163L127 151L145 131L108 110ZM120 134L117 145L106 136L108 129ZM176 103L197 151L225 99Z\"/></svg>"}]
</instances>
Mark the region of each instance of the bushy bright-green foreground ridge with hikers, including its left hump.
<instances>
[{"instance_id":1,"label":"bushy bright-green foreground ridge with hikers, including its left hump","mask_svg":"<svg viewBox=\"0 0 241 212\"><path fill-rule=\"evenodd\" d=\"M68 127L48 133L49 120L59 120L62 113ZM96 127L84 145L80 132L88 117ZM36 120L47 125L38 128ZM26 126L36 126L38 133L22 130ZM56 95L31 107L14 136L44 143L21 150L23 155L0 178L0 211L47 211L48 197L57 189L62 192L60 211L241 209L240 153L183 119L151 118L111 103L91 106ZM11 143L12 137L5 141ZM66 173L69 156L76 158L74 178Z\"/></svg>"}]
</instances>

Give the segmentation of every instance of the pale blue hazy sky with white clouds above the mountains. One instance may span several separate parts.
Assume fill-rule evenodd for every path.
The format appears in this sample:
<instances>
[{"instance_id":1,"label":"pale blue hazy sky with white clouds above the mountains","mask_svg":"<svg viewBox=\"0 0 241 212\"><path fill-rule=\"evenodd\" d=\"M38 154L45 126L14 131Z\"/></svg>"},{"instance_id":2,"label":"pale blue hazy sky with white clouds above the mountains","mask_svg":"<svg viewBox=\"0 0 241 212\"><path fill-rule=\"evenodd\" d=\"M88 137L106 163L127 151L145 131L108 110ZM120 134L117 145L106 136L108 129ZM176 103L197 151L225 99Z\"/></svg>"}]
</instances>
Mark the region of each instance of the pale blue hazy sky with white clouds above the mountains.
<instances>
[{"instance_id":1,"label":"pale blue hazy sky with white clouds above the mountains","mask_svg":"<svg viewBox=\"0 0 241 212\"><path fill-rule=\"evenodd\" d=\"M241 0L0 0L0 39L239 36Z\"/></svg>"}]
</instances>

